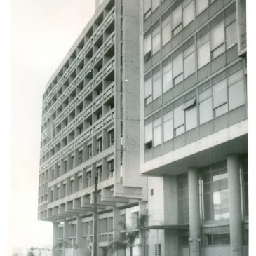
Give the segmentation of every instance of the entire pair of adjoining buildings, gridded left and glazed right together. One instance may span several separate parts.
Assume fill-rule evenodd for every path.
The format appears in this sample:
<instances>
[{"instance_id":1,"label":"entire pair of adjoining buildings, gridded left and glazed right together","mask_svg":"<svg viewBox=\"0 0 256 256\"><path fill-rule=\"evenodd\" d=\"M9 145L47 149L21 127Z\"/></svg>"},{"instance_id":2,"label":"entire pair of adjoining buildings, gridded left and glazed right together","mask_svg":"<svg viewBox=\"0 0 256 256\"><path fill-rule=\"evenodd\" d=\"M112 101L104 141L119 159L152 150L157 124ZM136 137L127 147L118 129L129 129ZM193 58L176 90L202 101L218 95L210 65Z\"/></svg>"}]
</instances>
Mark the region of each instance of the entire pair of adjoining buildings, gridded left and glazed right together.
<instances>
[{"instance_id":1,"label":"entire pair of adjoining buildings, gridded left and glazed right together","mask_svg":"<svg viewBox=\"0 0 256 256\"><path fill-rule=\"evenodd\" d=\"M141 216L133 256L248 255L245 1L95 7L43 95L53 255L128 255Z\"/></svg>"}]
</instances>

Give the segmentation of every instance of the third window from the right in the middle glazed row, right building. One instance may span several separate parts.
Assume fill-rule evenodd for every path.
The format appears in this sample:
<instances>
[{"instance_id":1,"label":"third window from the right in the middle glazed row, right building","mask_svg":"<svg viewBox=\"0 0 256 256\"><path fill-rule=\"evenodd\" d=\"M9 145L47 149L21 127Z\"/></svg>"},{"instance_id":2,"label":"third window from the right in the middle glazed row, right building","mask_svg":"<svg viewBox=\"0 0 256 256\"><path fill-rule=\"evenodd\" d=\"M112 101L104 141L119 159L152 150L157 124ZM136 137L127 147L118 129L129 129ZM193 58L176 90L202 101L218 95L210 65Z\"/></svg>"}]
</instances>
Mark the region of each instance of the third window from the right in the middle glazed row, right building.
<instances>
[{"instance_id":1,"label":"third window from the right in the middle glazed row, right building","mask_svg":"<svg viewBox=\"0 0 256 256\"><path fill-rule=\"evenodd\" d=\"M210 62L210 41L209 34L201 36L197 40L197 66L198 69Z\"/></svg>"}]
</instances>

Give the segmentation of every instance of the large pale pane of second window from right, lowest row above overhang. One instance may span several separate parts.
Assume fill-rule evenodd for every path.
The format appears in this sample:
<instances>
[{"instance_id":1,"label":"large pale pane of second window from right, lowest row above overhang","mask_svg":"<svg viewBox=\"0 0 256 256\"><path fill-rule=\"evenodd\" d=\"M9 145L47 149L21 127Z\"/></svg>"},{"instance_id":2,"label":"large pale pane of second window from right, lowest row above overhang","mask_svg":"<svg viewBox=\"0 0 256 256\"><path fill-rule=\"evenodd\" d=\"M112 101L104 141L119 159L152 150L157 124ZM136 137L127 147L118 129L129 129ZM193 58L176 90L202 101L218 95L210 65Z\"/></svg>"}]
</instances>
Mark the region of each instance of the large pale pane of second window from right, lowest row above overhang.
<instances>
[{"instance_id":1,"label":"large pale pane of second window from right, lowest row above overhang","mask_svg":"<svg viewBox=\"0 0 256 256\"><path fill-rule=\"evenodd\" d=\"M222 81L216 83L213 86L213 108L219 107L227 102L227 81L223 79Z\"/></svg>"}]
</instances>

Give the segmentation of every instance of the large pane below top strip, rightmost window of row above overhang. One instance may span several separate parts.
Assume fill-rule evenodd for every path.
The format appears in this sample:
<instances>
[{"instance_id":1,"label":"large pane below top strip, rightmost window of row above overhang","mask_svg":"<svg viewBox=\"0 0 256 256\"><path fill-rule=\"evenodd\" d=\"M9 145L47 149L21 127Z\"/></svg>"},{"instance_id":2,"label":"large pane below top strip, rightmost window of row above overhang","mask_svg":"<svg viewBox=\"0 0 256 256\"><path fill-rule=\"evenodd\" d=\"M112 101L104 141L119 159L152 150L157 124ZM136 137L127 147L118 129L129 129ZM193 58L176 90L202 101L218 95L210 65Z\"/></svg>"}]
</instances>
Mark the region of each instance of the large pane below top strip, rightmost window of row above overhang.
<instances>
[{"instance_id":1,"label":"large pane below top strip, rightmost window of row above overhang","mask_svg":"<svg viewBox=\"0 0 256 256\"><path fill-rule=\"evenodd\" d=\"M229 110L245 104L245 88L243 80L229 86Z\"/></svg>"}]
</instances>

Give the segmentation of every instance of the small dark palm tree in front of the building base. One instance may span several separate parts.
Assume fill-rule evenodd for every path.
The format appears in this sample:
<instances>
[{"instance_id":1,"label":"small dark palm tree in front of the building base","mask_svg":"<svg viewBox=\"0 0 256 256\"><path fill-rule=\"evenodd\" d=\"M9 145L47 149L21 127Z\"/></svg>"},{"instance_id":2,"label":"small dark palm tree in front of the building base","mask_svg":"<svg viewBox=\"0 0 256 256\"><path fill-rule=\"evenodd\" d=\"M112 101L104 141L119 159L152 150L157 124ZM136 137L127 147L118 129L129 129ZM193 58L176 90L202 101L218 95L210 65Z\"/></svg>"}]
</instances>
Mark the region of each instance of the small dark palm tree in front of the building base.
<instances>
[{"instance_id":1,"label":"small dark palm tree in front of the building base","mask_svg":"<svg viewBox=\"0 0 256 256\"><path fill-rule=\"evenodd\" d=\"M147 215L140 215L139 219L137 220L136 229L127 227L126 224L124 224L123 222L119 222L119 224L123 225L124 229L123 231L120 231L119 238L109 245L109 249L116 251L126 250L127 248L129 248L130 256L133 256L133 247L136 245L140 245L135 245L136 238L139 237L140 233L142 234L142 246L144 247L144 230L142 229L142 227L145 226L147 220Z\"/></svg>"}]
</instances>

